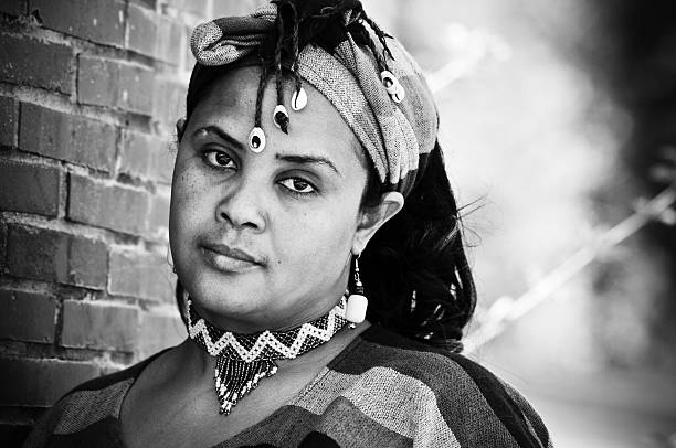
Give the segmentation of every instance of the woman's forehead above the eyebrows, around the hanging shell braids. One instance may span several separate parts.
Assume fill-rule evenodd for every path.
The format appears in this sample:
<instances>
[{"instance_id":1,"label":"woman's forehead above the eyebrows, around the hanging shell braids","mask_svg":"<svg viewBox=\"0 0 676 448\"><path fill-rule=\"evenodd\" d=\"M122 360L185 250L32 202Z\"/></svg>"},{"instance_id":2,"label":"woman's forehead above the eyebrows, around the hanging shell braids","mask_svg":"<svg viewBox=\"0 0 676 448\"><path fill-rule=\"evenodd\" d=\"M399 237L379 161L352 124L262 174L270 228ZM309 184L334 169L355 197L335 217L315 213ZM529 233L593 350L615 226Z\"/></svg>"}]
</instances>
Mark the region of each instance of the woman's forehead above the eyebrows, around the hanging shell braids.
<instances>
[{"instance_id":1,"label":"woman's forehead above the eyebrows, around the hanging shell braids","mask_svg":"<svg viewBox=\"0 0 676 448\"><path fill-rule=\"evenodd\" d=\"M223 129L229 136L246 147L254 126L256 93L260 68L241 67L228 72L214 81L207 95L197 105L189 122L189 132L209 126ZM293 83L285 79L284 102L291 100ZM284 134L273 121L276 105L275 79L268 79L262 103L262 125L268 148L278 152L303 152L342 157L361 156L357 137L338 110L311 85L305 83L307 106L299 111L289 110L288 134ZM358 157L361 161L362 157Z\"/></svg>"}]
</instances>

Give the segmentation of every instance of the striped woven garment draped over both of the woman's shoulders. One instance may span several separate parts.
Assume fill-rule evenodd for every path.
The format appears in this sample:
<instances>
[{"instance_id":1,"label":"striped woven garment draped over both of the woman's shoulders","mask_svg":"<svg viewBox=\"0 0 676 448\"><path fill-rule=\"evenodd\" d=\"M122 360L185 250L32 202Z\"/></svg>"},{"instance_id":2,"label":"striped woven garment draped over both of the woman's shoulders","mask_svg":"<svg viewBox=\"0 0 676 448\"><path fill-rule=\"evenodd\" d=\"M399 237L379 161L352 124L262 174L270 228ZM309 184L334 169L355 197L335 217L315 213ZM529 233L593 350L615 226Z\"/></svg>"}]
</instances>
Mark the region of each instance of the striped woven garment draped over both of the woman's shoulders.
<instances>
[{"instance_id":1,"label":"striped woven garment draped over both of the woman's shoulders","mask_svg":"<svg viewBox=\"0 0 676 448\"><path fill-rule=\"evenodd\" d=\"M122 403L157 355L66 394L25 442L124 447ZM372 326L289 404L219 448L551 447L540 417L478 364Z\"/></svg>"}]
</instances>

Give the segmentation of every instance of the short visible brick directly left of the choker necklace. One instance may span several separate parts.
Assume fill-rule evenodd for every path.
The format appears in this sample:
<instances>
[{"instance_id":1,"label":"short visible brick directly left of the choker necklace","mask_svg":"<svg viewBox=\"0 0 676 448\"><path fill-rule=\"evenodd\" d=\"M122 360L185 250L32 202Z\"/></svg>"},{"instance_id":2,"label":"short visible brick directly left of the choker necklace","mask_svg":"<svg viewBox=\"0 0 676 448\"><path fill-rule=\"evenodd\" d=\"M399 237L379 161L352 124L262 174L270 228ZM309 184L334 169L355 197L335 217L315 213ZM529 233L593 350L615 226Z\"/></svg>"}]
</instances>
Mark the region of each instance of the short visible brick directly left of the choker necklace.
<instances>
[{"instance_id":1,"label":"short visible brick directly left of the choker necklace","mask_svg":"<svg viewBox=\"0 0 676 448\"><path fill-rule=\"evenodd\" d=\"M141 314L138 353L148 358L168 346L181 343L187 337L186 326L178 311L167 313L145 312Z\"/></svg>"}]
</instances>

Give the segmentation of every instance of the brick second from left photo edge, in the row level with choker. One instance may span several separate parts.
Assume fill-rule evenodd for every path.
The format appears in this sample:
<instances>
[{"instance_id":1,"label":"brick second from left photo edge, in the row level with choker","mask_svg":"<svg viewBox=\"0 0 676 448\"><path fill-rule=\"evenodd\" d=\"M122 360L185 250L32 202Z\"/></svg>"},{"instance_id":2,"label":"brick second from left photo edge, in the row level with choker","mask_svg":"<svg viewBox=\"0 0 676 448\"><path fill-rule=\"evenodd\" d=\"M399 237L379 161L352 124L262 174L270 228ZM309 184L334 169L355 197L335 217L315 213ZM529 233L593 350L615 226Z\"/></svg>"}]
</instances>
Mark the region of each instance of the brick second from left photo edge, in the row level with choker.
<instances>
[{"instance_id":1,"label":"brick second from left photo edge, in the row level with choker","mask_svg":"<svg viewBox=\"0 0 676 448\"><path fill-rule=\"evenodd\" d=\"M128 305L64 300L61 345L77 349L134 351L138 309Z\"/></svg>"}]
</instances>

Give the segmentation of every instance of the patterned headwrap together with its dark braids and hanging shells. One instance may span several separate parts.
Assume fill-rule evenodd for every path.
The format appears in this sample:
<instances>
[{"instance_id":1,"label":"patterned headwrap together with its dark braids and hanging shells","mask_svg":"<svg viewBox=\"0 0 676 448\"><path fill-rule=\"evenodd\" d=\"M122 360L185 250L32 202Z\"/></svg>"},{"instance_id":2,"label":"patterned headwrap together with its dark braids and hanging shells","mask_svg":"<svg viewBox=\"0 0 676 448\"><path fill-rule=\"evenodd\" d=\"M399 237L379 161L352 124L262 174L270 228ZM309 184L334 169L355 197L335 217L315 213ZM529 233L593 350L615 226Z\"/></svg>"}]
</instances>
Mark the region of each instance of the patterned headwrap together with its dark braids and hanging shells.
<instances>
[{"instance_id":1,"label":"patterned headwrap together with its dark braids and hanging shells","mask_svg":"<svg viewBox=\"0 0 676 448\"><path fill-rule=\"evenodd\" d=\"M287 132L307 103L302 79L317 88L352 129L388 190L406 196L422 177L436 141L437 114L422 71L403 46L365 13L357 0L275 0L246 17L215 19L192 33L197 93L222 70L254 60L262 66L250 148L263 150L261 104L276 76L273 119ZM282 72L295 87L284 98Z\"/></svg>"}]
</instances>

